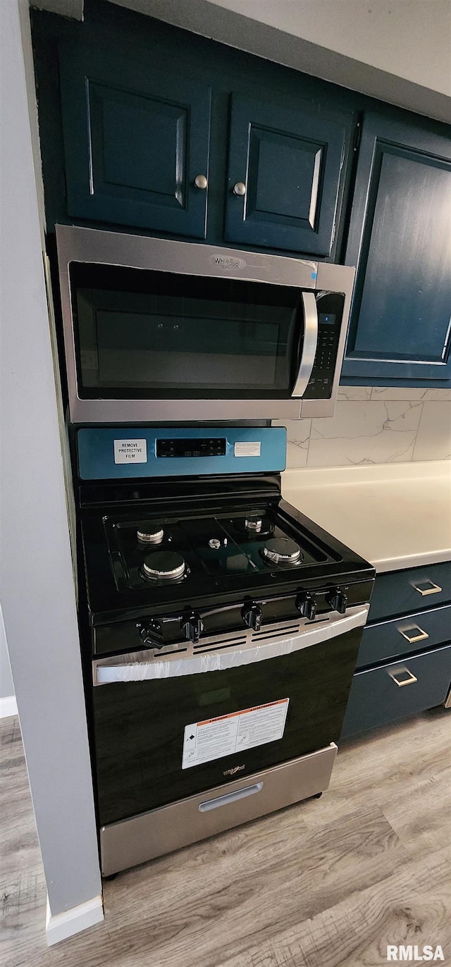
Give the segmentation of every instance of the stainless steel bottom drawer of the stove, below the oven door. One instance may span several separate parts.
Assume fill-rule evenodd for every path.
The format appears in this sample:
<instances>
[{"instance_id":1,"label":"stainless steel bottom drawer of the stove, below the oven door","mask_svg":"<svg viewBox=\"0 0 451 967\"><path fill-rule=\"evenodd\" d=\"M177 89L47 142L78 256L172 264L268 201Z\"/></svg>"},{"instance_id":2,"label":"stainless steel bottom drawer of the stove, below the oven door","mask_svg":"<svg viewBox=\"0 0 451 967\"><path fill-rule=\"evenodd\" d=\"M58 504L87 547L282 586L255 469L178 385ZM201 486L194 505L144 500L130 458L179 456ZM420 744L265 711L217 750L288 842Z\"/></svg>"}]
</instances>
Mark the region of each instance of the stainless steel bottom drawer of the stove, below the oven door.
<instances>
[{"instance_id":1,"label":"stainless steel bottom drawer of the stove, below the oven door","mask_svg":"<svg viewBox=\"0 0 451 967\"><path fill-rule=\"evenodd\" d=\"M331 743L253 776L102 827L104 876L315 796L327 789L336 754L337 746Z\"/></svg>"}]
</instances>

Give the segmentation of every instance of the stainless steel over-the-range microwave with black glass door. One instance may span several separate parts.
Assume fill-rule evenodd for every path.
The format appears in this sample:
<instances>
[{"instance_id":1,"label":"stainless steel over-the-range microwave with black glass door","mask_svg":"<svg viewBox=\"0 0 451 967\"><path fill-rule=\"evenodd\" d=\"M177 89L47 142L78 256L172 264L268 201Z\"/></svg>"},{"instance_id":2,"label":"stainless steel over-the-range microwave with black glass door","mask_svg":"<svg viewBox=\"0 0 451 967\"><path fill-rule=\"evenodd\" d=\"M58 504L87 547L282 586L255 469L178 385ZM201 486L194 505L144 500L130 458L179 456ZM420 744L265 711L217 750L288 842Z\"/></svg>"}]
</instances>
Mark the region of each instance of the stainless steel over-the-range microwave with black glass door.
<instances>
[{"instance_id":1,"label":"stainless steel over-the-range microwave with black glass door","mask_svg":"<svg viewBox=\"0 0 451 967\"><path fill-rule=\"evenodd\" d=\"M354 269L57 225L72 423L327 417Z\"/></svg>"}]
</instances>

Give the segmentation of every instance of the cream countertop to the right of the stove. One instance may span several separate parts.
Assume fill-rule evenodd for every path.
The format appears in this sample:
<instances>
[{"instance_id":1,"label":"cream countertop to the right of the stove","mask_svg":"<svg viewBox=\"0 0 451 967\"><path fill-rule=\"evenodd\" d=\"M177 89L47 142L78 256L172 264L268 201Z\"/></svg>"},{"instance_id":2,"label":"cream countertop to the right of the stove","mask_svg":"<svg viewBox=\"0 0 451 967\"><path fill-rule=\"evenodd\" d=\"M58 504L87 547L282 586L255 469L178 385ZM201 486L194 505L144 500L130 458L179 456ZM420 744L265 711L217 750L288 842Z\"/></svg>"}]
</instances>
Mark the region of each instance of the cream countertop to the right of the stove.
<instances>
[{"instance_id":1,"label":"cream countertop to the right of the stove","mask_svg":"<svg viewBox=\"0 0 451 967\"><path fill-rule=\"evenodd\" d=\"M451 561L451 461L286 470L282 493L374 565Z\"/></svg>"}]
</instances>

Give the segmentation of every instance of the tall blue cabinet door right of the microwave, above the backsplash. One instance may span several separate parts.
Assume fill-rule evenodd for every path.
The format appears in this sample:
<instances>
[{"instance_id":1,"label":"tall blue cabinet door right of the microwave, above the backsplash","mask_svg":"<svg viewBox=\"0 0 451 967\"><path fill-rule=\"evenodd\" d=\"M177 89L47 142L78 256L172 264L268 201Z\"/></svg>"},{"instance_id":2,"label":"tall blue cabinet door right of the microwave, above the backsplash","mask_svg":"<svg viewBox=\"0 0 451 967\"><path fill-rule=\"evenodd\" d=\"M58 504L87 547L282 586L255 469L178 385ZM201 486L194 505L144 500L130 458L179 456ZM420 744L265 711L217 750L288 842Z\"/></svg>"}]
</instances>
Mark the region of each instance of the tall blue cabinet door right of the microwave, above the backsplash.
<instances>
[{"instance_id":1,"label":"tall blue cabinet door right of the microwave, above the backsplash","mask_svg":"<svg viewBox=\"0 0 451 967\"><path fill-rule=\"evenodd\" d=\"M368 116L354 198L342 375L451 385L451 140Z\"/></svg>"}]
</instances>

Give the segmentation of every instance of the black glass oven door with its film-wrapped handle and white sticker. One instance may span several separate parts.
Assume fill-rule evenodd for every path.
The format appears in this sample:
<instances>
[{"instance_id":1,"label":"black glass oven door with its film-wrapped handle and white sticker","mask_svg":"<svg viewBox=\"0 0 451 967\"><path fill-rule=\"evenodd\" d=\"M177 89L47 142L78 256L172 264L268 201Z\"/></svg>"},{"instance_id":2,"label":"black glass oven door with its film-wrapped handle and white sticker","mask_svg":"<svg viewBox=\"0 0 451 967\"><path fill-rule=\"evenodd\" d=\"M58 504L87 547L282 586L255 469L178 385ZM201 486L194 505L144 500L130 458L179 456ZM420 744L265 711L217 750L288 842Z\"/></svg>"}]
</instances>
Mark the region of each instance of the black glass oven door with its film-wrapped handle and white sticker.
<instances>
[{"instance_id":1,"label":"black glass oven door with its film-wrapped handle and white sticker","mask_svg":"<svg viewBox=\"0 0 451 967\"><path fill-rule=\"evenodd\" d=\"M101 825L336 742L368 607L240 650L96 660Z\"/></svg>"}]
</instances>

